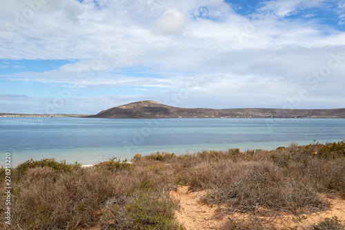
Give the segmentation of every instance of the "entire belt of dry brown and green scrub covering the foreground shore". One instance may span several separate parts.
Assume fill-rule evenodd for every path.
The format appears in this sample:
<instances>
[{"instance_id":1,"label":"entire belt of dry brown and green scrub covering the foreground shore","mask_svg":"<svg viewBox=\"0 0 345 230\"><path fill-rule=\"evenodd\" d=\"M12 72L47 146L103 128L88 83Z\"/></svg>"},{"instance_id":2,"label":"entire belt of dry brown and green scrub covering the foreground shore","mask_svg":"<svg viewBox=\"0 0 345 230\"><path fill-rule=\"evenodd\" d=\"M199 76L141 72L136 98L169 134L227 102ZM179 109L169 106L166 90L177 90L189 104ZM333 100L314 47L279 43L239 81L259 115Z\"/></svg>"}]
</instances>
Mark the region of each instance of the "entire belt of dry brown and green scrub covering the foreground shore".
<instances>
[{"instance_id":1,"label":"entire belt of dry brown and green scrub covering the foreground shore","mask_svg":"<svg viewBox=\"0 0 345 230\"><path fill-rule=\"evenodd\" d=\"M0 218L5 219L5 171L0 170ZM29 160L11 171L11 225L0 229L184 229L174 217L177 185L206 190L200 200L230 219L221 229L268 229L266 216L325 211L325 194L345 198L345 143L290 144L275 151L201 151L187 155L113 157L94 167L54 159ZM266 222L263 222L265 220ZM270 219L270 221L273 221ZM284 228L281 229L293 229ZM325 219L307 229L344 229Z\"/></svg>"}]
</instances>

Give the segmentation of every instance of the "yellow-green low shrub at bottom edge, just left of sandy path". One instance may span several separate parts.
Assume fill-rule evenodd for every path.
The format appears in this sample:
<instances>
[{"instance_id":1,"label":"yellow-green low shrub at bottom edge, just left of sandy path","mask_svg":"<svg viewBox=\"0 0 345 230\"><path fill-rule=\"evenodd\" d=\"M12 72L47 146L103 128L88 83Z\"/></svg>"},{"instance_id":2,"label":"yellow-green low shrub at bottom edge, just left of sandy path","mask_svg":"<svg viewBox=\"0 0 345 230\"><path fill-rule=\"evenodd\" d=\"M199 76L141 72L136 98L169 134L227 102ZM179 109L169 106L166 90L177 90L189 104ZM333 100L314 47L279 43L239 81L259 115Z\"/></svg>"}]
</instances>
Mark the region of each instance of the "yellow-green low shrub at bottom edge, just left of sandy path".
<instances>
[{"instance_id":1,"label":"yellow-green low shrub at bottom edge, just left of sandy path","mask_svg":"<svg viewBox=\"0 0 345 230\"><path fill-rule=\"evenodd\" d=\"M184 229L175 221L178 209L168 193L138 191L108 202L99 225L101 229Z\"/></svg>"}]
</instances>

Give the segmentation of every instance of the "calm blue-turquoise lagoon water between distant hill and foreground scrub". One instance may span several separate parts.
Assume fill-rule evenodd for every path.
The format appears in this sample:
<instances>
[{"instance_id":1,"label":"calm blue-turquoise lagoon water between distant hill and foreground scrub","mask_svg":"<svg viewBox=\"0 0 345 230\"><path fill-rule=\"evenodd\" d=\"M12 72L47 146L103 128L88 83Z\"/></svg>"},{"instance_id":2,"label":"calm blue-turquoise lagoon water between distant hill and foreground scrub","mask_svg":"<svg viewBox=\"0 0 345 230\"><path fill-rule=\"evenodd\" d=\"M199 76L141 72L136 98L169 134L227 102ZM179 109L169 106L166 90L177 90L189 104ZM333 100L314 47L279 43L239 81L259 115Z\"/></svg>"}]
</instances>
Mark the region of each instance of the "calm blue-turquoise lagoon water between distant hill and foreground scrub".
<instances>
[{"instance_id":1,"label":"calm blue-turquoise lagoon water between distant hill and foreground scrub","mask_svg":"<svg viewBox=\"0 0 345 230\"><path fill-rule=\"evenodd\" d=\"M345 119L88 119L0 117L0 164L30 158L94 164L156 151L187 153L228 148L275 149L291 142L338 142Z\"/></svg>"}]
</instances>

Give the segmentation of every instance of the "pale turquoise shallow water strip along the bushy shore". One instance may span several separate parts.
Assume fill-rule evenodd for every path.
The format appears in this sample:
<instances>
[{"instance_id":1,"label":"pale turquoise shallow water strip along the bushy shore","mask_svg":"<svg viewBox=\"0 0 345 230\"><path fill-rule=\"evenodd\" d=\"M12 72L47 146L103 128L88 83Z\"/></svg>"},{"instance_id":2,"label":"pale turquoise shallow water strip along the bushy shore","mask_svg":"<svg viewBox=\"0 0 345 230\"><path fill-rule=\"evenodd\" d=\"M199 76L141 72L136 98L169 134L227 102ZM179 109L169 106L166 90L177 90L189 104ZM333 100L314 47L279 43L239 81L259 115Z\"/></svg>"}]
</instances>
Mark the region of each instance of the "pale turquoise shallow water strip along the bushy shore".
<instances>
[{"instance_id":1,"label":"pale turquoise shallow water strip along the bushy shore","mask_svg":"<svg viewBox=\"0 0 345 230\"><path fill-rule=\"evenodd\" d=\"M337 140L317 140L319 144L326 142L341 142L344 139ZM109 160L111 157L117 157L118 160L130 160L135 154L142 156L150 155L157 152L175 153L176 155L186 155L190 153L198 153L202 151L227 151L230 148L239 148L239 151L274 151L280 146L288 147L290 144L296 143L298 146L313 144L313 140L298 142L244 142L236 144L195 144L195 145L166 145L166 146L135 146L131 152L126 152L123 147L106 147L106 148L70 148L70 149L41 149L35 151L8 151L12 154L12 166L23 164L27 160L42 160L54 158L57 162L66 161L68 164L78 162L81 165L95 165L99 162ZM6 153L6 151L2 151ZM5 164L0 160L0 164Z\"/></svg>"}]
</instances>

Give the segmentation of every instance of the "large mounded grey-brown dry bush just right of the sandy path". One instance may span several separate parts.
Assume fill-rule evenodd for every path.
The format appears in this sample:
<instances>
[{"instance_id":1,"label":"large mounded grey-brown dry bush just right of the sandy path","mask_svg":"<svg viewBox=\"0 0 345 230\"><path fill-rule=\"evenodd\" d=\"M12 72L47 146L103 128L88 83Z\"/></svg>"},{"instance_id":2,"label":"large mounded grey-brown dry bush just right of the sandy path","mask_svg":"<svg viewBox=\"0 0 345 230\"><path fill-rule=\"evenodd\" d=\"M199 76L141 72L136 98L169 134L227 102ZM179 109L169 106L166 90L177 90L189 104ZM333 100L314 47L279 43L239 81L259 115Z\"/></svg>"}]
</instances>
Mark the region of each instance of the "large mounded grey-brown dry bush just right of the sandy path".
<instances>
[{"instance_id":1,"label":"large mounded grey-brown dry bush just right of the sandy path","mask_svg":"<svg viewBox=\"0 0 345 230\"><path fill-rule=\"evenodd\" d=\"M315 189L294 178L284 177L271 162L239 162L227 184L217 186L204 198L208 203L228 204L225 211L268 210L318 211L327 207Z\"/></svg>"}]
</instances>

